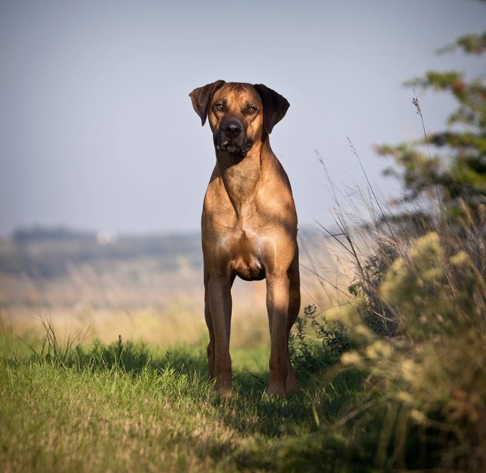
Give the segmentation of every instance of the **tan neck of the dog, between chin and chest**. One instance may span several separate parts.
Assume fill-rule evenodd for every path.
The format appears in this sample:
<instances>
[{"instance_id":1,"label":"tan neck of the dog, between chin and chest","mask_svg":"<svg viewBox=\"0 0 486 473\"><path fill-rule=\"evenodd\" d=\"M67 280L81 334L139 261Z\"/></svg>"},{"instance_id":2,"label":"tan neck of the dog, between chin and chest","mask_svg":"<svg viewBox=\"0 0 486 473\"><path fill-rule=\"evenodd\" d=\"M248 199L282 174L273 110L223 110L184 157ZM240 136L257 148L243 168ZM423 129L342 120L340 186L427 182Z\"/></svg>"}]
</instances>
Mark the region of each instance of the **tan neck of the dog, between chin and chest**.
<instances>
[{"instance_id":1,"label":"tan neck of the dog, between chin and chest","mask_svg":"<svg viewBox=\"0 0 486 473\"><path fill-rule=\"evenodd\" d=\"M216 152L219 173L237 216L242 204L254 193L262 174L262 163L271 152L268 138L254 144L246 156Z\"/></svg>"}]
</instances>

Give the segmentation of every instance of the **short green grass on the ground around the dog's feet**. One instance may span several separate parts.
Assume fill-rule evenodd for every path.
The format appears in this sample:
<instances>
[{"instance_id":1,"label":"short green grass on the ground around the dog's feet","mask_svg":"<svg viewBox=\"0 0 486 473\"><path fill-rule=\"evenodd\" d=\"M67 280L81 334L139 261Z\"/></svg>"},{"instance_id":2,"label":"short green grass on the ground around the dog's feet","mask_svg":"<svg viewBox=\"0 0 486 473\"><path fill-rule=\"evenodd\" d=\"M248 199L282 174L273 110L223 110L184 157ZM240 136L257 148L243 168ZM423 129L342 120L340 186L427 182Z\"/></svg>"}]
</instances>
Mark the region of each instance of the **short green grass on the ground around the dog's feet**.
<instances>
[{"instance_id":1,"label":"short green grass on the ground around the dog's feet","mask_svg":"<svg viewBox=\"0 0 486 473\"><path fill-rule=\"evenodd\" d=\"M307 376L301 393L268 398L267 350L266 345L235 350L229 398L207 382L203 348L154 354L147 346L115 343L66 354L51 346L42 356L37 350L38 356L4 358L0 466L4 471L334 471L349 464L341 460L346 442L334 424L355 407L363 376L349 370L330 382ZM316 463L306 439L320 442L323 432L329 445Z\"/></svg>"}]
</instances>

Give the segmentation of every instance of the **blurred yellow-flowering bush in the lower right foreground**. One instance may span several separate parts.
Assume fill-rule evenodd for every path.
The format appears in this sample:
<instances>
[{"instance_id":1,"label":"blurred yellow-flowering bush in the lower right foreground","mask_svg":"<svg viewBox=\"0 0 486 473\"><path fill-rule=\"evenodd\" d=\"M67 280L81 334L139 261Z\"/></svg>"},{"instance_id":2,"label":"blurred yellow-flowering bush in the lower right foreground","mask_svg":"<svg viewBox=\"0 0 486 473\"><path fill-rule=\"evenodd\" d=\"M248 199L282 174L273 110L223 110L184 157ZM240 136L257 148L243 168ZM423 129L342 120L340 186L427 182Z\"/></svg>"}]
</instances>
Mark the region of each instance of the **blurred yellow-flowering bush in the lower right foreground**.
<instances>
[{"instance_id":1,"label":"blurred yellow-flowering bush in the lower right foreground","mask_svg":"<svg viewBox=\"0 0 486 473\"><path fill-rule=\"evenodd\" d=\"M394 261L378 292L402 337L369 332L357 350L342 355L345 365L370 376L386 409L376 466L483 471L484 278L466 251L448 261L438 235L429 233Z\"/></svg>"}]
</instances>

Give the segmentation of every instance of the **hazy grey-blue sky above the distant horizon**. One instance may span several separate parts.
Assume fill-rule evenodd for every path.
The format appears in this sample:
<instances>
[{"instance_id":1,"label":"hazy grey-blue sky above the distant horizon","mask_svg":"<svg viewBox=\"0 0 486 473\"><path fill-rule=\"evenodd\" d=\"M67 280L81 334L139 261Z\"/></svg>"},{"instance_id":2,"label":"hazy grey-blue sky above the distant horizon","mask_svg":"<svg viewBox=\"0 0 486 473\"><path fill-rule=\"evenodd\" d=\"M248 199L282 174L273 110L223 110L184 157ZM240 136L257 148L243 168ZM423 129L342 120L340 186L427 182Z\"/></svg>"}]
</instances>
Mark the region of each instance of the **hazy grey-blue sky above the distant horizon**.
<instances>
[{"instance_id":1,"label":"hazy grey-blue sky above the distant horizon","mask_svg":"<svg viewBox=\"0 0 486 473\"><path fill-rule=\"evenodd\" d=\"M474 0L0 0L0 234L197 231L215 153L188 94L218 79L289 100L270 142L301 228L334 205L316 150L338 197L364 182L346 137L386 202L399 185L373 144L422 134L403 82L483 73L435 50L484 20ZM441 129L454 102L418 96Z\"/></svg>"}]
</instances>

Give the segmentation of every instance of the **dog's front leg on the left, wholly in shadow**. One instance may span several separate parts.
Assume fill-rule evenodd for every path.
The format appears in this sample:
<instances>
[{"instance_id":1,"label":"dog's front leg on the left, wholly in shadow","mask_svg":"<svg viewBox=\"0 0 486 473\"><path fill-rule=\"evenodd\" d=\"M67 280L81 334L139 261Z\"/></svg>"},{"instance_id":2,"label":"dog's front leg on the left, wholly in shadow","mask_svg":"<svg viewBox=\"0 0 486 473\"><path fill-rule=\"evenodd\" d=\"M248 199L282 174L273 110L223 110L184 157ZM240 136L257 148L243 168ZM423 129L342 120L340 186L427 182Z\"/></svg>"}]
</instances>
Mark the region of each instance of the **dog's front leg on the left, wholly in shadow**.
<instances>
[{"instance_id":1,"label":"dog's front leg on the left, wholly in shadow","mask_svg":"<svg viewBox=\"0 0 486 473\"><path fill-rule=\"evenodd\" d=\"M211 276L208 282L209 305L214 332L214 376L216 389L231 389L229 336L231 327L231 279Z\"/></svg>"}]
</instances>

